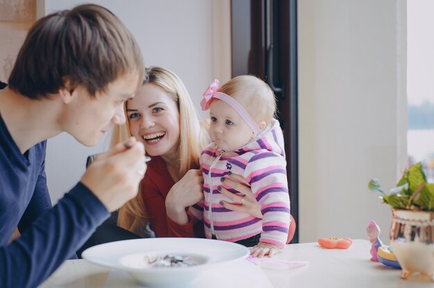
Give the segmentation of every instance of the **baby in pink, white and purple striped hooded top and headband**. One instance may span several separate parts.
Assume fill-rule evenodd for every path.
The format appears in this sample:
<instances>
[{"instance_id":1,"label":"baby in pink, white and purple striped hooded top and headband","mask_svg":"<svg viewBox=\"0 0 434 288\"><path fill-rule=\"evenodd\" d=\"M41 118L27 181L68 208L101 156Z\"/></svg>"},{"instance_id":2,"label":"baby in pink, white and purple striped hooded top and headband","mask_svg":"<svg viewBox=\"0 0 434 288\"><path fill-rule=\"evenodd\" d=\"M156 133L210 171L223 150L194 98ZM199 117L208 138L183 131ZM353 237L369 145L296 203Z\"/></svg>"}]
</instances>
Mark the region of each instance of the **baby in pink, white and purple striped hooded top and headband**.
<instances>
[{"instance_id":1,"label":"baby in pink, white and purple striped hooded top and headband","mask_svg":"<svg viewBox=\"0 0 434 288\"><path fill-rule=\"evenodd\" d=\"M205 199L189 208L203 220L207 238L254 246L255 256L273 255L283 249L288 237L290 202L286 179L284 138L274 118L275 95L268 84L251 75L241 75L218 89L211 83L200 103L210 109L211 143L200 156ZM242 175L261 205L263 218L228 210L222 189L244 195L225 186L224 176Z\"/></svg>"}]
</instances>

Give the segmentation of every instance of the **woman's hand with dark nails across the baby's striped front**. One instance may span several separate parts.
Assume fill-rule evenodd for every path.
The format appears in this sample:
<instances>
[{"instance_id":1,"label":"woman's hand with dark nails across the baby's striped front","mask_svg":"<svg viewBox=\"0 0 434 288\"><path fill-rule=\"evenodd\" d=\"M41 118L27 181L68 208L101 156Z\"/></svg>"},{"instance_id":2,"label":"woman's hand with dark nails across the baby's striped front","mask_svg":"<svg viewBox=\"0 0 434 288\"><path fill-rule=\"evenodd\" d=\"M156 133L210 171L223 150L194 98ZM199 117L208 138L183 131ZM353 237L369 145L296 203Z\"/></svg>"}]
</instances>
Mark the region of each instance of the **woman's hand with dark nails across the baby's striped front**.
<instances>
[{"instance_id":1,"label":"woman's hand with dark nails across the baby's striped front","mask_svg":"<svg viewBox=\"0 0 434 288\"><path fill-rule=\"evenodd\" d=\"M229 203L228 201L221 201L220 204L229 210L247 213L262 219L261 205L257 199L254 198L249 183L245 181L242 176L237 174L226 175L224 182L225 186L229 186L232 189L241 192L243 196L235 195L234 193L229 192L227 189L222 187L220 193L231 199L232 203Z\"/></svg>"}]
</instances>

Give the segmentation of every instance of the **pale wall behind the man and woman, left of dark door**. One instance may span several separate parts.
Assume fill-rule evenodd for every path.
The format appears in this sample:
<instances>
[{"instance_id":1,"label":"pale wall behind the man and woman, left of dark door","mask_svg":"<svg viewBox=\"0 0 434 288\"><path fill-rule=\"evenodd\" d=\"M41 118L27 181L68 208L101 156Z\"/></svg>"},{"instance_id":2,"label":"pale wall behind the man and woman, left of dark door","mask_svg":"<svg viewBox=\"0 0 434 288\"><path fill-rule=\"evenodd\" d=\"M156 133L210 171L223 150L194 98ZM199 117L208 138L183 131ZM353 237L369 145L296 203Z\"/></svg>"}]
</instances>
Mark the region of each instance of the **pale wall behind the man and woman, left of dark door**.
<instances>
[{"instance_id":1,"label":"pale wall behind the man and woman, left of dark door","mask_svg":"<svg viewBox=\"0 0 434 288\"><path fill-rule=\"evenodd\" d=\"M164 66L177 73L198 109L211 80L229 80L229 0L38 0L38 16L81 3L98 3L112 10L136 37L146 66ZM200 114L205 116L202 111ZM53 202L80 179L87 155L103 152L108 142L102 139L98 146L89 148L68 135L49 140L46 174Z\"/></svg>"}]
</instances>

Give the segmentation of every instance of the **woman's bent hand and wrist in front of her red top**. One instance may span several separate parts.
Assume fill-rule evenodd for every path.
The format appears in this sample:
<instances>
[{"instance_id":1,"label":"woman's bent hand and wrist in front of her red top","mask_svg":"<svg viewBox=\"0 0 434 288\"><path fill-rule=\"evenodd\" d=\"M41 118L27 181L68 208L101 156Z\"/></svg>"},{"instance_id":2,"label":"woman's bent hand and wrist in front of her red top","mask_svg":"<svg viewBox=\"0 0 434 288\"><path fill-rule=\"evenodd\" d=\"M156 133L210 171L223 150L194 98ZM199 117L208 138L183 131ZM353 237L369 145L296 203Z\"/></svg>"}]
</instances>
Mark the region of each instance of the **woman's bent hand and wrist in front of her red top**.
<instances>
[{"instance_id":1,"label":"woman's bent hand and wrist in front of her red top","mask_svg":"<svg viewBox=\"0 0 434 288\"><path fill-rule=\"evenodd\" d=\"M200 169L191 169L169 190L166 213L178 224L186 224L189 217L185 209L203 199L203 177Z\"/></svg>"}]
</instances>

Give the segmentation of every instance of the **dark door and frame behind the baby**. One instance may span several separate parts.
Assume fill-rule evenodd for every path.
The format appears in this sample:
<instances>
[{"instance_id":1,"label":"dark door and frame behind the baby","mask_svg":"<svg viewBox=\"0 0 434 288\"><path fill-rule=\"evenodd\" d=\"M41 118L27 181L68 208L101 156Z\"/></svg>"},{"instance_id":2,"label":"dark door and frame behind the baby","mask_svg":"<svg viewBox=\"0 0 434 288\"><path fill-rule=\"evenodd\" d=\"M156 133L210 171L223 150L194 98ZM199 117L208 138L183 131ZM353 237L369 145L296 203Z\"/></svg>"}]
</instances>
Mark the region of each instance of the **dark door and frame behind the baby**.
<instances>
[{"instance_id":1,"label":"dark door and frame behind the baby","mask_svg":"<svg viewBox=\"0 0 434 288\"><path fill-rule=\"evenodd\" d=\"M232 77L252 74L277 97L291 214L298 217L297 0L232 0ZM298 229L293 241L298 243Z\"/></svg>"}]
</instances>

